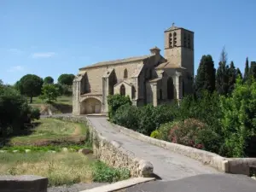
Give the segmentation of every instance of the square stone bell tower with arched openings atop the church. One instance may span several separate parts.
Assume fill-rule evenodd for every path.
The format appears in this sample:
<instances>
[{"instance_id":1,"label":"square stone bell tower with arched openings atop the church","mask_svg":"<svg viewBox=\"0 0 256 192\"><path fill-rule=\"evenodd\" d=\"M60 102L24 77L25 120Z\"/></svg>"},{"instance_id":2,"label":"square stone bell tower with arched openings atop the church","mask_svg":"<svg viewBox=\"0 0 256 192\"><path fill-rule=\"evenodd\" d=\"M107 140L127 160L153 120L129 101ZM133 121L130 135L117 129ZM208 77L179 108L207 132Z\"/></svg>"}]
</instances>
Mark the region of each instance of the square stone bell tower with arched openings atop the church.
<instances>
[{"instance_id":1,"label":"square stone bell tower with arched openings atop the church","mask_svg":"<svg viewBox=\"0 0 256 192\"><path fill-rule=\"evenodd\" d=\"M184 67L194 77L194 32L172 23L165 31L165 58L173 67Z\"/></svg>"}]
</instances>

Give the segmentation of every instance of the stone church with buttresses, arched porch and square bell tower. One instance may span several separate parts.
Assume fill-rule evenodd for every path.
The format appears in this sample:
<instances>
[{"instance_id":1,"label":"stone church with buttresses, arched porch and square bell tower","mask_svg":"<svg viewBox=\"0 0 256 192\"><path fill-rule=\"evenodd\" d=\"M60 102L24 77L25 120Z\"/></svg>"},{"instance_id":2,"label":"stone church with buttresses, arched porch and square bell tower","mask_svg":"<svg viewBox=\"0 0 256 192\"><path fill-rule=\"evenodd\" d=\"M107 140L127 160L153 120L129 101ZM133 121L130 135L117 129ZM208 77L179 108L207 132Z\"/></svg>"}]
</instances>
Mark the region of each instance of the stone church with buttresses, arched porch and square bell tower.
<instances>
[{"instance_id":1,"label":"stone church with buttresses, arched porch and square bell tower","mask_svg":"<svg viewBox=\"0 0 256 192\"><path fill-rule=\"evenodd\" d=\"M136 106L157 106L191 92L194 32L173 24L164 42L164 56L154 47L149 55L80 68L73 80L73 114L107 113L107 97L113 94L130 96Z\"/></svg>"}]
</instances>

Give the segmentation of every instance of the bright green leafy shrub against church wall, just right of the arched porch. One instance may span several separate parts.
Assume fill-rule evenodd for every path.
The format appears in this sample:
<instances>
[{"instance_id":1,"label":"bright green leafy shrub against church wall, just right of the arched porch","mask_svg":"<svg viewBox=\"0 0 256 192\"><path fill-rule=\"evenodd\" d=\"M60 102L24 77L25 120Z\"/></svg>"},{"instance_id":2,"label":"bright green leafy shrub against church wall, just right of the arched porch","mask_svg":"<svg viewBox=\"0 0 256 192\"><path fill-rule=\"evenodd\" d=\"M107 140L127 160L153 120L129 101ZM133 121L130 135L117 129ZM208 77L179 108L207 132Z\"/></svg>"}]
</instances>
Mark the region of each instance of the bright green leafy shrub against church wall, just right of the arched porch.
<instances>
[{"instance_id":1,"label":"bright green leafy shrub against church wall, just right of the arched porch","mask_svg":"<svg viewBox=\"0 0 256 192\"><path fill-rule=\"evenodd\" d=\"M129 96L121 96L119 94L108 96L108 117L113 120L113 116L122 105L131 105L131 99Z\"/></svg>"}]
</instances>

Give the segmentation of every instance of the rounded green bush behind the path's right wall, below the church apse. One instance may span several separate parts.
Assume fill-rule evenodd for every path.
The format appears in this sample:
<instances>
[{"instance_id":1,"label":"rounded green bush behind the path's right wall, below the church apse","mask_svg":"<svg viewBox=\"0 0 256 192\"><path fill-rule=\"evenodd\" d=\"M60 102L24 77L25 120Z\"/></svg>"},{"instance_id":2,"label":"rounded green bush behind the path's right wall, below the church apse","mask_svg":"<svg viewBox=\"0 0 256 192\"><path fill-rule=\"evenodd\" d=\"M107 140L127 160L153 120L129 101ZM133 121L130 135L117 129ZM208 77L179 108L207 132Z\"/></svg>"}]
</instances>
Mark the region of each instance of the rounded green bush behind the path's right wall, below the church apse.
<instances>
[{"instance_id":1,"label":"rounded green bush behind the path's right wall, below the church apse","mask_svg":"<svg viewBox=\"0 0 256 192\"><path fill-rule=\"evenodd\" d=\"M136 131L138 128L138 109L131 106L129 103L118 108L113 116L113 123L125 126L131 130Z\"/></svg>"}]
</instances>

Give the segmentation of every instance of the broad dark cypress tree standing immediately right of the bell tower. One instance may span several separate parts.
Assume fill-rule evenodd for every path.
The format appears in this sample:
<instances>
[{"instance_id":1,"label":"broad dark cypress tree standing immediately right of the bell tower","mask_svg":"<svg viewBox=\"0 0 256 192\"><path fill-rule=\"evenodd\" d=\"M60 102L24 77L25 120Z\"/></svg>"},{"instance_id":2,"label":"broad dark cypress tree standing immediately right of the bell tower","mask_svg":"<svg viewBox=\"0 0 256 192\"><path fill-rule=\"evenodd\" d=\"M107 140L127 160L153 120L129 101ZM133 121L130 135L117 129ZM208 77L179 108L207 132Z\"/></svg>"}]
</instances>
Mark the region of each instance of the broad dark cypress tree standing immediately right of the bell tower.
<instances>
[{"instance_id":1,"label":"broad dark cypress tree standing immediately right of the bell tower","mask_svg":"<svg viewBox=\"0 0 256 192\"><path fill-rule=\"evenodd\" d=\"M195 92L200 95L202 90L213 92L215 90L215 68L211 55L203 55L197 69L195 79Z\"/></svg>"}]
</instances>

